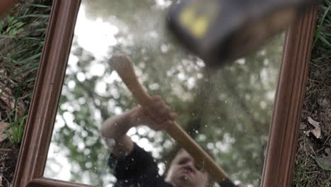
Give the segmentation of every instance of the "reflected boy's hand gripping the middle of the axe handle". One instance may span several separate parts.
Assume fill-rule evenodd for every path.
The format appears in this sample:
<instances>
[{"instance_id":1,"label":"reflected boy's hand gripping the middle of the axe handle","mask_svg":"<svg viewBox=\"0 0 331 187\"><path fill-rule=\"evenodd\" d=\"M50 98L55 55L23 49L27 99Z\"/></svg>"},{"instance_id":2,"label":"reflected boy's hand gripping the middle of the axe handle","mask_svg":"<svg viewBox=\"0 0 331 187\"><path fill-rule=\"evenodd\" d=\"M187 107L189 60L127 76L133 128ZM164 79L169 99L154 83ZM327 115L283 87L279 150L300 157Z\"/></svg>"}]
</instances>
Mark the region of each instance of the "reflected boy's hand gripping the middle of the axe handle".
<instances>
[{"instance_id":1,"label":"reflected boy's hand gripping the middle of the axe handle","mask_svg":"<svg viewBox=\"0 0 331 187\"><path fill-rule=\"evenodd\" d=\"M170 107L164 103L160 96L152 96L149 106L137 108L134 115L136 123L146 125L152 130L165 130L168 125L173 124L177 113L172 113Z\"/></svg>"}]
</instances>

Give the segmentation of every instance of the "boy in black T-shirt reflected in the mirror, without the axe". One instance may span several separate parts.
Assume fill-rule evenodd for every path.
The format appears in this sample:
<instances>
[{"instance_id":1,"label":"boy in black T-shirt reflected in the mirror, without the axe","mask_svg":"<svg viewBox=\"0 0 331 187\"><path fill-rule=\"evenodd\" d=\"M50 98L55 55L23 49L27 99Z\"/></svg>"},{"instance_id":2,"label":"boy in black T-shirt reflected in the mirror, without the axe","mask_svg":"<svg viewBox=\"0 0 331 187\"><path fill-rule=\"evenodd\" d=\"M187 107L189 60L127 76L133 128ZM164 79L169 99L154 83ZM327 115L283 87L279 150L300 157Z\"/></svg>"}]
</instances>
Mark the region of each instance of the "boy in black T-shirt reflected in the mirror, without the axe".
<instances>
[{"instance_id":1,"label":"boy in black T-shirt reflected in the mirror, without the axe","mask_svg":"<svg viewBox=\"0 0 331 187\"><path fill-rule=\"evenodd\" d=\"M108 164L115 170L115 187L213 186L207 172L197 166L184 149L180 149L175 155L168 173L163 178L158 174L158 166L153 157L126 135L130 128L141 124L152 130L166 130L176 117L177 114L170 111L161 97L153 96L149 106L132 108L103 123L100 132L111 150Z\"/></svg>"}]
</instances>

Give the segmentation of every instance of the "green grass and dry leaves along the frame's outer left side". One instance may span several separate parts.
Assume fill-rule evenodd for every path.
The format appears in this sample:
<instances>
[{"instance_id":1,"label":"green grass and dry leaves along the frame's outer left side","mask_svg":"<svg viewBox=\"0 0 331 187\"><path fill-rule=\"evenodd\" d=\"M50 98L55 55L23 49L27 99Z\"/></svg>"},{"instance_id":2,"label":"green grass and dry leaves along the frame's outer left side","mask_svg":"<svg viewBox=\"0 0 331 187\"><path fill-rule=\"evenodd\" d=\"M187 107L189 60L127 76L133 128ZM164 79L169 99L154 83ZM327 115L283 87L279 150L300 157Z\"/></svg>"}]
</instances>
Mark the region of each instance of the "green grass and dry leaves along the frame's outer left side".
<instances>
[{"instance_id":1,"label":"green grass and dry leaves along the frame's outer left side","mask_svg":"<svg viewBox=\"0 0 331 187\"><path fill-rule=\"evenodd\" d=\"M9 146L23 137L51 4L21 1L0 21L0 97L6 100L0 119L11 124L5 132Z\"/></svg>"}]
</instances>

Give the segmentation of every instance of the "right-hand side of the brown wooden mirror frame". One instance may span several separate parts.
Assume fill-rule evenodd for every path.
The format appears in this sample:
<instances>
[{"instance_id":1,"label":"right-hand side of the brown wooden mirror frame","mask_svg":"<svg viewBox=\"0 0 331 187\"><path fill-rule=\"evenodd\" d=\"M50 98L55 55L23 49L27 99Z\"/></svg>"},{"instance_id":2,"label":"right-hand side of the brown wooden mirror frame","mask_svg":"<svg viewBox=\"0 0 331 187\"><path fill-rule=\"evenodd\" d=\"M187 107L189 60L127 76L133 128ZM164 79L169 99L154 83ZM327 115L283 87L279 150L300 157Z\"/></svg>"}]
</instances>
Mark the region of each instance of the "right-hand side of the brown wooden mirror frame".
<instances>
[{"instance_id":1,"label":"right-hand side of the brown wooden mirror frame","mask_svg":"<svg viewBox=\"0 0 331 187\"><path fill-rule=\"evenodd\" d=\"M286 33L261 186L291 186L317 7Z\"/></svg>"}]
</instances>

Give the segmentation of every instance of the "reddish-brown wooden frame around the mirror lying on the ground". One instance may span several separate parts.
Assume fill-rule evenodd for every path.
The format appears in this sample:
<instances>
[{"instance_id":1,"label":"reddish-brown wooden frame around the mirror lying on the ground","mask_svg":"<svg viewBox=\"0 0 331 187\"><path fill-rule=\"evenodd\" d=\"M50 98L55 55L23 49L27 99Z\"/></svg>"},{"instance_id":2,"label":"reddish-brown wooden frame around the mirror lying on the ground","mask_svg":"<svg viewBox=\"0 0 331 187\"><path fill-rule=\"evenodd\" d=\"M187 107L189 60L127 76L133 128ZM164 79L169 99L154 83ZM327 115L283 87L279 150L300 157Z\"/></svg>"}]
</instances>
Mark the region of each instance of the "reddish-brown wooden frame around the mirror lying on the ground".
<instances>
[{"instance_id":1,"label":"reddish-brown wooden frame around the mirror lying on the ground","mask_svg":"<svg viewBox=\"0 0 331 187\"><path fill-rule=\"evenodd\" d=\"M43 177L80 0L54 0L13 187L90 186ZM291 186L317 8L286 33L261 186ZM92 186L90 186L92 187Z\"/></svg>"}]
</instances>

